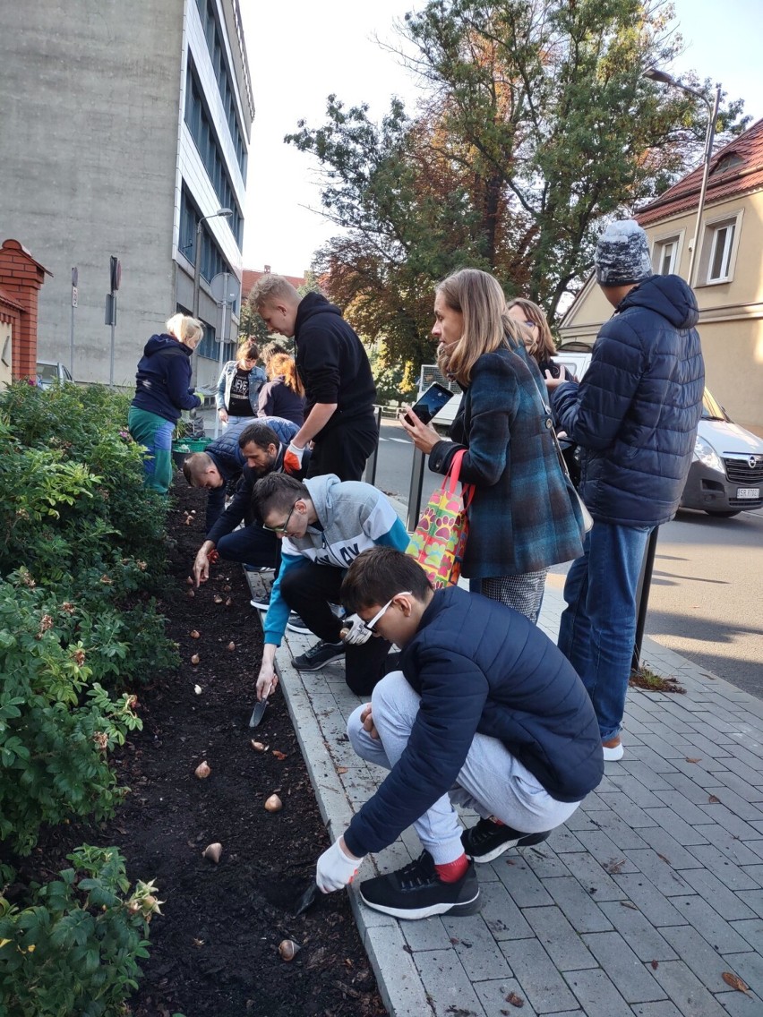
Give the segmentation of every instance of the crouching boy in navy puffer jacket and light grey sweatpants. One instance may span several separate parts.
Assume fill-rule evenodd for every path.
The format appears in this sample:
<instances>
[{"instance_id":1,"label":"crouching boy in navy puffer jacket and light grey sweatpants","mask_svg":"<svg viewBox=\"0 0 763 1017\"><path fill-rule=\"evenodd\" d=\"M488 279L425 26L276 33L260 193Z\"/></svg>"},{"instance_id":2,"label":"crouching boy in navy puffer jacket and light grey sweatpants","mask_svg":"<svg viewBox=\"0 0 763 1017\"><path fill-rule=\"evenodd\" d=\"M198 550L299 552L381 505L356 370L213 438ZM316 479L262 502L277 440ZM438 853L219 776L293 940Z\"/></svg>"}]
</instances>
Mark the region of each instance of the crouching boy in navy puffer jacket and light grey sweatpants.
<instances>
[{"instance_id":1,"label":"crouching boy in navy puffer jacket and light grey sweatpants","mask_svg":"<svg viewBox=\"0 0 763 1017\"><path fill-rule=\"evenodd\" d=\"M402 648L347 724L355 752L390 771L317 861L324 893L411 824L422 854L360 885L399 918L478 911L474 862L537 844L601 780L593 707L550 640L511 607L456 587L433 591L417 562L389 547L360 554L345 607ZM454 802L482 818L462 830Z\"/></svg>"}]
</instances>

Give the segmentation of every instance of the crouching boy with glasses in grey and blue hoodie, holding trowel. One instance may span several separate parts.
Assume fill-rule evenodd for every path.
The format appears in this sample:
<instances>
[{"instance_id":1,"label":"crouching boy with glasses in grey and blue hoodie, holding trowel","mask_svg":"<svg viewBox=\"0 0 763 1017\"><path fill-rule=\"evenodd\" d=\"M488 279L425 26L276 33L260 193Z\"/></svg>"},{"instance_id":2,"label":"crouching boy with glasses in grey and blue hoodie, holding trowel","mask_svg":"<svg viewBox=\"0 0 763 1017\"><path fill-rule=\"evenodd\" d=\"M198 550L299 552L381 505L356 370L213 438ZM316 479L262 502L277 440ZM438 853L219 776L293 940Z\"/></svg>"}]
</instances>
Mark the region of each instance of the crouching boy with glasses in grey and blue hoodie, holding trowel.
<instances>
[{"instance_id":1,"label":"crouching boy with glasses in grey and blue hoodie, holding trowel","mask_svg":"<svg viewBox=\"0 0 763 1017\"><path fill-rule=\"evenodd\" d=\"M362 551L375 546L405 550L408 534L389 499L361 481L335 474L299 481L271 474L254 485L252 504L266 530L281 540L281 567L271 591L262 627L265 647L257 676L257 699L278 684L276 650L289 616L296 612L319 642L294 658L300 671L319 671L345 661L347 684L367 696L389 669L387 640L371 640L357 615L340 619L332 605L341 602L345 572Z\"/></svg>"}]
</instances>

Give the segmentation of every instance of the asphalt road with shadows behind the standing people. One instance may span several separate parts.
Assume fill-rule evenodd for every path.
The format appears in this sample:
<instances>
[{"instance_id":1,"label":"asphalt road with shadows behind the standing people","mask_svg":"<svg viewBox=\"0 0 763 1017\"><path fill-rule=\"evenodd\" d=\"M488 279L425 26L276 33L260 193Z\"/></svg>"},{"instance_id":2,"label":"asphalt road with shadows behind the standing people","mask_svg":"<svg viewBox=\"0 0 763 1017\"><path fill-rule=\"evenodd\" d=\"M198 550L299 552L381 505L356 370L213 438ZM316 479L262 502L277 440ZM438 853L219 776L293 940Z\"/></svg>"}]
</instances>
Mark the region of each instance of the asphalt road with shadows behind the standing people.
<instances>
[{"instance_id":1,"label":"asphalt road with shadows behind the standing people","mask_svg":"<svg viewBox=\"0 0 763 1017\"><path fill-rule=\"evenodd\" d=\"M380 438L376 486L407 504L413 446L394 422L383 423ZM424 473L425 498L436 482ZM763 511L733 519L681 511L661 527L646 634L763 698Z\"/></svg>"}]
</instances>

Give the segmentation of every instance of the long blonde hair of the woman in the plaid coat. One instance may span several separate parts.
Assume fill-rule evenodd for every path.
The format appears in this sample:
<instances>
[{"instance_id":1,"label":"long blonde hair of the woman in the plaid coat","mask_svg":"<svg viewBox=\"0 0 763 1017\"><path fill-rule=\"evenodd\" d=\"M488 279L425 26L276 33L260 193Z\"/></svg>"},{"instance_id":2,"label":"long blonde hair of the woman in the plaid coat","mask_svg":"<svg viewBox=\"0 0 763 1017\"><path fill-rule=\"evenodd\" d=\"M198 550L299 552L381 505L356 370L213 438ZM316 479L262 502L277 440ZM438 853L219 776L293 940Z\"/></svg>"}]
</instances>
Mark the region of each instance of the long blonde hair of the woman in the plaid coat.
<instances>
[{"instance_id":1,"label":"long blonde hair of the woman in the plaid coat","mask_svg":"<svg viewBox=\"0 0 763 1017\"><path fill-rule=\"evenodd\" d=\"M437 354L443 374L468 384L472 367L484 353L519 346L519 326L507 313L506 297L494 276L479 268L461 268L444 279L436 292L452 310L464 316L461 339Z\"/></svg>"}]
</instances>

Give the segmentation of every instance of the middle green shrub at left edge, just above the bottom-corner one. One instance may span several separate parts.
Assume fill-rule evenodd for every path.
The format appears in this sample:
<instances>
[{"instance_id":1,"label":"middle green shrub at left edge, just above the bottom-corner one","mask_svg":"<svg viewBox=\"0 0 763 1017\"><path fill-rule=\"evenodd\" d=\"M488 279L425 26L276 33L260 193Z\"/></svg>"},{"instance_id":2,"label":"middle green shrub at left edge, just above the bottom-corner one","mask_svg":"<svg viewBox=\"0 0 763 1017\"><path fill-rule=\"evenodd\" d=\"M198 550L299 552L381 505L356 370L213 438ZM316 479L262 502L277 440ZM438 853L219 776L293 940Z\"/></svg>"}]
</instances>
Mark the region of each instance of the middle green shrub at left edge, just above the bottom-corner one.
<instances>
[{"instance_id":1,"label":"middle green shrub at left edge, just above the bottom-corner one","mask_svg":"<svg viewBox=\"0 0 763 1017\"><path fill-rule=\"evenodd\" d=\"M135 698L93 680L119 670L128 648L117 635L109 619L0 582L0 840L18 854L44 823L105 819L123 796L108 753L141 726Z\"/></svg>"}]
</instances>

